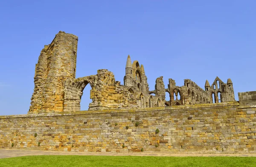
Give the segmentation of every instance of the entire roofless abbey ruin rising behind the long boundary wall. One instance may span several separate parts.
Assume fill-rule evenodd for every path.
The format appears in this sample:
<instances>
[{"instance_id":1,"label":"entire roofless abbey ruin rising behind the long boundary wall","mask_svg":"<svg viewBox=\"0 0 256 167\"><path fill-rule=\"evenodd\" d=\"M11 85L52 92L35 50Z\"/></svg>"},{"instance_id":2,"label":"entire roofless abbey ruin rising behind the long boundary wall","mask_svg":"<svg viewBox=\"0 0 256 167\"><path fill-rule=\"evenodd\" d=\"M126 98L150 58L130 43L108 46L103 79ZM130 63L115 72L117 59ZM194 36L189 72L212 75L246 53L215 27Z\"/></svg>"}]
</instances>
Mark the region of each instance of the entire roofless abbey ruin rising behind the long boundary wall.
<instances>
[{"instance_id":1,"label":"entire roofless abbey ruin rising behind the long boundary wall","mask_svg":"<svg viewBox=\"0 0 256 167\"><path fill-rule=\"evenodd\" d=\"M35 68L35 89L29 113L80 111L83 89L90 84L89 110L151 108L174 105L208 104L235 101L233 83L216 78L205 90L189 79L176 86L169 79L165 88L163 77L156 79L155 89L149 90L143 65L131 63L128 55L124 85L115 81L112 72L99 69L96 75L76 78L78 37L59 32L51 44L44 46ZM166 92L170 101L166 101ZM151 95L153 94L154 95ZM180 98L178 98L180 97Z\"/></svg>"}]
</instances>

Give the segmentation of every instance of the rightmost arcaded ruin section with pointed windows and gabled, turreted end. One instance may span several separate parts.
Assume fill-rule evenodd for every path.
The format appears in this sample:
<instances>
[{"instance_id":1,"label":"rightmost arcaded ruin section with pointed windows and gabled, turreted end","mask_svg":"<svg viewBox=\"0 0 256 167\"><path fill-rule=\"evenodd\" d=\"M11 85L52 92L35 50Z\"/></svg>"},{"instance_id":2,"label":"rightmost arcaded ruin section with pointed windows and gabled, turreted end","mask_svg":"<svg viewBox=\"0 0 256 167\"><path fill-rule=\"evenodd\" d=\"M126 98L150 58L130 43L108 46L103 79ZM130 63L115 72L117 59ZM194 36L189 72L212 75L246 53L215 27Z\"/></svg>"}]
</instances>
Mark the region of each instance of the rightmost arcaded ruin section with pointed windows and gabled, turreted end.
<instances>
[{"instance_id":1,"label":"rightmost arcaded ruin section with pointed windows and gabled, turreted end","mask_svg":"<svg viewBox=\"0 0 256 167\"><path fill-rule=\"evenodd\" d=\"M166 105L171 106L235 101L233 83L230 78L227 83L224 83L216 77L212 86L206 80L205 90L190 79L184 80L184 86L176 86L175 80L170 78L166 92L170 94L170 101L167 101ZM180 95L180 99L178 99L178 95Z\"/></svg>"}]
</instances>

